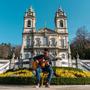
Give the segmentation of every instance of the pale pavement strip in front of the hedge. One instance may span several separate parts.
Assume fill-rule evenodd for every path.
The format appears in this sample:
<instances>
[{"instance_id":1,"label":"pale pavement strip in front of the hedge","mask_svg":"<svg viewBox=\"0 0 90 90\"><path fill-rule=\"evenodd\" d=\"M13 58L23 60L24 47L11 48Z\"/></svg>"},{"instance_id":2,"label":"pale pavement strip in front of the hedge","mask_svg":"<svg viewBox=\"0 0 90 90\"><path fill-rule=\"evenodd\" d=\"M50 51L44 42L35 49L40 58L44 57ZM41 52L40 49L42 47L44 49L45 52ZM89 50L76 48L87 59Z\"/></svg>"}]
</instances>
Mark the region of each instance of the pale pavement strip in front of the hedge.
<instances>
[{"instance_id":1,"label":"pale pavement strip in front of the hedge","mask_svg":"<svg viewBox=\"0 0 90 90\"><path fill-rule=\"evenodd\" d=\"M90 90L90 85L60 85L51 86L50 88L34 88L34 86L10 86L10 85L0 85L0 90Z\"/></svg>"}]
</instances>

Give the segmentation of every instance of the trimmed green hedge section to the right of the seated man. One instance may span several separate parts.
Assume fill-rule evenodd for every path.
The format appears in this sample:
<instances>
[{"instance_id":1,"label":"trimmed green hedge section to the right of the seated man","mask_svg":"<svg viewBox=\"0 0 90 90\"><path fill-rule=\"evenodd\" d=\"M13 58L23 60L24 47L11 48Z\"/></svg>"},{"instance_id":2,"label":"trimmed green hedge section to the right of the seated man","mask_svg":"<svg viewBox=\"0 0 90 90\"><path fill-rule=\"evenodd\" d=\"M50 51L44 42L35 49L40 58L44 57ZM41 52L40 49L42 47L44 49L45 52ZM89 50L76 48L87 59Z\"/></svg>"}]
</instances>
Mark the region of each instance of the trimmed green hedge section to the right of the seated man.
<instances>
[{"instance_id":1,"label":"trimmed green hedge section to the right of the seated man","mask_svg":"<svg viewBox=\"0 0 90 90\"><path fill-rule=\"evenodd\" d=\"M90 84L90 78L52 78L52 85L87 85Z\"/></svg>"}]
</instances>

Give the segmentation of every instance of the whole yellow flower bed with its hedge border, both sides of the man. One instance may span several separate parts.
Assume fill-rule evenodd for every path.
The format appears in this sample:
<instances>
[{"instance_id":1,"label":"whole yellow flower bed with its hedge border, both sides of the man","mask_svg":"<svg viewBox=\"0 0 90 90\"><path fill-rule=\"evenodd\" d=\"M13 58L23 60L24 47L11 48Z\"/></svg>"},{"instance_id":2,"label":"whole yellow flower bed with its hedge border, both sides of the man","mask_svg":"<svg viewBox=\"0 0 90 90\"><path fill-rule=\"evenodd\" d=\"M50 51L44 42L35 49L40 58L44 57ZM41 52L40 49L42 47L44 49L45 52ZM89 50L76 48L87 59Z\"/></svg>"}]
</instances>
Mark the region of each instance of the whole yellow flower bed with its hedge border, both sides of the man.
<instances>
[{"instance_id":1,"label":"whole yellow flower bed with its hedge border, both sides of the man","mask_svg":"<svg viewBox=\"0 0 90 90\"><path fill-rule=\"evenodd\" d=\"M51 80L53 85L84 85L90 84L90 72L75 68L53 67L54 76ZM43 77L43 73L41 73ZM47 77L47 73L45 74ZM35 85L35 75L32 70L7 71L0 74L0 84L28 84Z\"/></svg>"}]
</instances>

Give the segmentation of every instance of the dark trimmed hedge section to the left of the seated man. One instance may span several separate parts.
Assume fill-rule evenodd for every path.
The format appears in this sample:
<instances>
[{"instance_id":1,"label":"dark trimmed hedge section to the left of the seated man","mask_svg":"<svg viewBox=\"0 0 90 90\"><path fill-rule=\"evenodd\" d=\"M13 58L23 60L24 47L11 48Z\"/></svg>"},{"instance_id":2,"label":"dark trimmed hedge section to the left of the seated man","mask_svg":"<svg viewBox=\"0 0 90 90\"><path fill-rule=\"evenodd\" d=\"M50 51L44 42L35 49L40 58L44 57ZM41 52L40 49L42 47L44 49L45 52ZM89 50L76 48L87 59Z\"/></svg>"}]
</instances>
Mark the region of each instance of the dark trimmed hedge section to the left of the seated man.
<instances>
[{"instance_id":1,"label":"dark trimmed hedge section to the left of the seated man","mask_svg":"<svg viewBox=\"0 0 90 90\"><path fill-rule=\"evenodd\" d=\"M35 85L34 77L0 77L0 84Z\"/></svg>"}]
</instances>

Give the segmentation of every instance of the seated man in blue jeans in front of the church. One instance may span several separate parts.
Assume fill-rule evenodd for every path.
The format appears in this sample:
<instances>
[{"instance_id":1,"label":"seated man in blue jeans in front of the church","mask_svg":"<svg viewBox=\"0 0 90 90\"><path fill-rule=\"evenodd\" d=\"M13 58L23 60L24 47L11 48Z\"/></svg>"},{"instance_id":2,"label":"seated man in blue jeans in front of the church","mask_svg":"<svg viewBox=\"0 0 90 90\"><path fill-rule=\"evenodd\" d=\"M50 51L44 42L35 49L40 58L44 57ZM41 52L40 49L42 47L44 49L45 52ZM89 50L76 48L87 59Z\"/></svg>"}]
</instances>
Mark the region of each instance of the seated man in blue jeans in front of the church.
<instances>
[{"instance_id":1,"label":"seated man in blue jeans in front of the church","mask_svg":"<svg viewBox=\"0 0 90 90\"><path fill-rule=\"evenodd\" d=\"M38 57L34 58L36 62L38 63L38 66L36 68L36 79L37 79L37 85L36 88L40 87L40 73L41 72L47 72L48 76L46 79L46 87L50 87L50 81L53 75L53 69L52 69L52 63L51 63L51 58L49 56L49 51L48 49L44 49L43 55L39 55ZM41 65L42 62L46 62L45 65Z\"/></svg>"}]
</instances>

